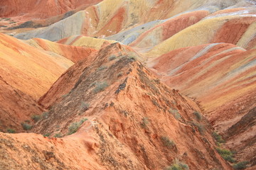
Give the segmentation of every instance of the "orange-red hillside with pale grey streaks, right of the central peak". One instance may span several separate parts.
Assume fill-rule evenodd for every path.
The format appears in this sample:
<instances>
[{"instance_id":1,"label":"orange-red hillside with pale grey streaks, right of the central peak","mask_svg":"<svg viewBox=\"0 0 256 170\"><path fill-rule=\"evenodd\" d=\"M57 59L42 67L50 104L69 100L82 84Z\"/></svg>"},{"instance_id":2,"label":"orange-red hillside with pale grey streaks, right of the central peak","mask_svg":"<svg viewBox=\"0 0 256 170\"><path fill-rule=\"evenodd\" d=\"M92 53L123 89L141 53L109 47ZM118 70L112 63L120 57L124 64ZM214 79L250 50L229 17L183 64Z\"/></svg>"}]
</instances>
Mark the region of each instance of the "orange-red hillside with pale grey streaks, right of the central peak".
<instances>
[{"instance_id":1,"label":"orange-red hillside with pale grey streaks, right of the central peak","mask_svg":"<svg viewBox=\"0 0 256 170\"><path fill-rule=\"evenodd\" d=\"M232 108L233 101L238 106L246 103L247 110L255 105L255 52L225 43L199 45L166 53L149 61L148 66L166 84L201 101L210 120L227 120L244 109ZM251 99L245 100L244 96Z\"/></svg>"}]
</instances>

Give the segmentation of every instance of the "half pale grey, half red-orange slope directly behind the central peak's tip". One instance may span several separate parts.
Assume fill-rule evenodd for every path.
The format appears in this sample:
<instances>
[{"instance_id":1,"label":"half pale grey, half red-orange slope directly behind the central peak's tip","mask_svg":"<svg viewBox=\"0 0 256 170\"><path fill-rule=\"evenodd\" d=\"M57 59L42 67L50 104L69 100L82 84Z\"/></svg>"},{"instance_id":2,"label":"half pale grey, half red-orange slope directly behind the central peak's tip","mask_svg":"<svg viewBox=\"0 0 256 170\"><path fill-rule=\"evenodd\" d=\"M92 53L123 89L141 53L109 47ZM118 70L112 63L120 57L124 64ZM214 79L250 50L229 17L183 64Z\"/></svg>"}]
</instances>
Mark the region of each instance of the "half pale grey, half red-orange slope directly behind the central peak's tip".
<instances>
[{"instance_id":1,"label":"half pale grey, half red-orange slope directly behind the central peak's tip","mask_svg":"<svg viewBox=\"0 0 256 170\"><path fill-rule=\"evenodd\" d=\"M212 10L212 9L211 9ZM165 20L151 21L135 28L107 37L132 47L154 47L179 31L191 26L210 14L210 9L181 13Z\"/></svg>"}]
</instances>

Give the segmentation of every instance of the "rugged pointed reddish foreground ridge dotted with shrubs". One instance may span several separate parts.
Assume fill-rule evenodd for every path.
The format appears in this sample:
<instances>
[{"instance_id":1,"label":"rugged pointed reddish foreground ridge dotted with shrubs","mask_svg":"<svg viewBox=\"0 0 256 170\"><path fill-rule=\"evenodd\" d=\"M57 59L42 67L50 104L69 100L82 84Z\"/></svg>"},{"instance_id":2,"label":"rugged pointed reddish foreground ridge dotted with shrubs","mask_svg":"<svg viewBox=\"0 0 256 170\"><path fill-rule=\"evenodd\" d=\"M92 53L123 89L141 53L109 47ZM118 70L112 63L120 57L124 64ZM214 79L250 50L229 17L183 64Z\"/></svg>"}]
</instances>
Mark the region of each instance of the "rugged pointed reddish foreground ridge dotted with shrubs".
<instances>
[{"instance_id":1,"label":"rugged pointed reddish foreground ridge dotted with shrubs","mask_svg":"<svg viewBox=\"0 0 256 170\"><path fill-rule=\"evenodd\" d=\"M129 47L115 43L103 47L89 66L85 60L71 67L52 87L66 84L68 94L53 102L31 130L50 138L1 133L1 166L164 169L179 159L191 169L230 169L215 152L208 123L194 115L200 108L161 84L134 57ZM82 72L73 78L75 70ZM70 128L74 123L80 125L78 132ZM19 152L26 154L22 162Z\"/></svg>"}]
</instances>

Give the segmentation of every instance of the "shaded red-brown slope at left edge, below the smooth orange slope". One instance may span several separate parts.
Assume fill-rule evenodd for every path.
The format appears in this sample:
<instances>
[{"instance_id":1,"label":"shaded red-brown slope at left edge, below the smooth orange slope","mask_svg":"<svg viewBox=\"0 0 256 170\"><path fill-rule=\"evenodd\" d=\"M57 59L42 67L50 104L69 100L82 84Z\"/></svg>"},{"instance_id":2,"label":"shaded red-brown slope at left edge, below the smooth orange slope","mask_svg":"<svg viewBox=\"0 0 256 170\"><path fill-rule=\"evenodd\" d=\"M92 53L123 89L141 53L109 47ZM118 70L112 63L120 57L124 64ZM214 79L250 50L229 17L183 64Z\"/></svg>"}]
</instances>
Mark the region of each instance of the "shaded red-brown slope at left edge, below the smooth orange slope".
<instances>
[{"instance_id":1,"label":"shaded red-brown slope at left edge, below the smooth orange slope","mask_svg":"<svg viewBox=\"0 0 256 170\"><path fill-rule=\"evenodd\" d=\"M1 132L23 132L21 123L33 121L31 116L40 115L42 111L34 98L15 89L0 76Z\"/></svg>"}]
</instances>

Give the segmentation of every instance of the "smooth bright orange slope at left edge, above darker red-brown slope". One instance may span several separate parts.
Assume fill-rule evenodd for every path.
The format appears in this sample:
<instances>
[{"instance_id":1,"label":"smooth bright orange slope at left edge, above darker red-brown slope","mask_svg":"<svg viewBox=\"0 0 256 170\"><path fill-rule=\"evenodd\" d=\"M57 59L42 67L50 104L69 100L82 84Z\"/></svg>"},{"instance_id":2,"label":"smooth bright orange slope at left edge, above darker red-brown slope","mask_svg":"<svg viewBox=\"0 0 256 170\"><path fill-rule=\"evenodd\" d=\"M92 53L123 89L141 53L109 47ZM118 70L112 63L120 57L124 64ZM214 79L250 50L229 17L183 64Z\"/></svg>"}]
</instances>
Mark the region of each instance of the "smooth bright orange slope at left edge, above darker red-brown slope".
<instances>
[{"instance_id":1,"label":"smooth bright orange slope at left edge, above darker red-brown slope","mask_svg":"<svg viewBox=\"0 0 256 170\"><path fill-rule=\"evenodd\" d=\"M1 77L33 98L42 96L73 62L0 34Z\"/></svg>"}]
</instances>

